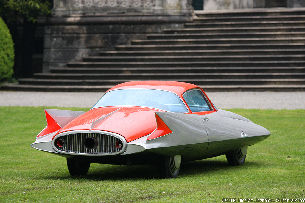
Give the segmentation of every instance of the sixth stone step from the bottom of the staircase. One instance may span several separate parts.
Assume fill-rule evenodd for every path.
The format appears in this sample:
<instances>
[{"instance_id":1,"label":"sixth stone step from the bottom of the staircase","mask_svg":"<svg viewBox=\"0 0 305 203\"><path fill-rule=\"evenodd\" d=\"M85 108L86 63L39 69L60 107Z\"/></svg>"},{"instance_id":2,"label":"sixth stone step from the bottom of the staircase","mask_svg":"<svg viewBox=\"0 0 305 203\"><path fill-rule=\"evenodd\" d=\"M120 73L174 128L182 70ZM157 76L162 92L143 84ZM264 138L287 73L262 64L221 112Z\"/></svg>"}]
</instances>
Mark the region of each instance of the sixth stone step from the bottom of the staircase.
<instances>
[{"instance_id":1,"label":"sixth stone step from the bottom of the staircase","mask_svg":"<svg viewBox=\"0 0 305 203\"><path fill-rule=\"evenodd\" d=\"M236 56L126 56L84 57L84 62L179 62L179 61L305 61L305 55L236 55Z\"/></svg>"}]
</instances>

